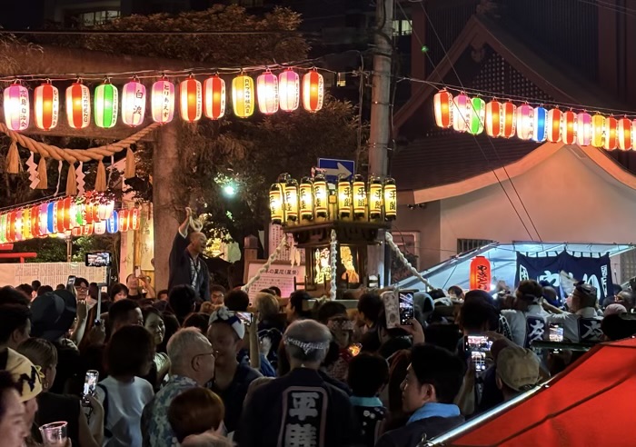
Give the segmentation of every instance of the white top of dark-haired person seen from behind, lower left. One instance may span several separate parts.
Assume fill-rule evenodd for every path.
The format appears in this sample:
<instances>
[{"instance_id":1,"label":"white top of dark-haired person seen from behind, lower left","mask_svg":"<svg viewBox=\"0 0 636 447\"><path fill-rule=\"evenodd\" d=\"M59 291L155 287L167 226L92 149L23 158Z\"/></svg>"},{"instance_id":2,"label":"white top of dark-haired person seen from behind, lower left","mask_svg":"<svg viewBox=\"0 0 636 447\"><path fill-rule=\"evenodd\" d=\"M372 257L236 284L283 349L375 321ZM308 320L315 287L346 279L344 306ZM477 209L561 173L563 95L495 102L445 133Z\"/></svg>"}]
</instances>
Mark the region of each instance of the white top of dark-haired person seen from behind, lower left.
<instances>
[{"instance_id":1,"label":"white top of dark-haired person seen from behind, lower left","mask_svg":"<svg viewBox=\"0 0 636 447\"><path fill-rule=\"evenodd\" d=\"M118 382L106 377L100 385L108 393L108 413L104 429L112 432L112 437L104 435L104 447L141 447L141 418L144 406L153 399L153 386L139 377L133 382ZM97 400L104 405L104 390L97 386ZM105 408L104 408L105 410Z\"/></svg>"}]
</instances>

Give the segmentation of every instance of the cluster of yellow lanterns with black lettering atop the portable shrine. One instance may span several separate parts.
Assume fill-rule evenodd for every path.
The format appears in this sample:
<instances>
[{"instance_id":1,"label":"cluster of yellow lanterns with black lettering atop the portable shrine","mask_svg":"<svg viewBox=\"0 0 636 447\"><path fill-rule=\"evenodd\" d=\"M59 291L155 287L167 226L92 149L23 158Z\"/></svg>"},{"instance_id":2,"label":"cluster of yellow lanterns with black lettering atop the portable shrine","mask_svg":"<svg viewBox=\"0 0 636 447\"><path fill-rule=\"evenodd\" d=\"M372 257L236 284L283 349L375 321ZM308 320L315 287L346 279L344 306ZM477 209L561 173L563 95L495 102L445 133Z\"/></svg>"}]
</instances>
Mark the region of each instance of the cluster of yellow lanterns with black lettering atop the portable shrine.
<instances>
[{"instance_id":1,"label":"cluster of yellow lanterns with black lettering atop the portable shrine","mask_svg":"<svg viewBox=\"0 0 636 447\"><path fill-rule=\"evenodd\" d=\"M323 174L303 177L300 184L289 174L281 174L269 193L273 224L303 225L343 220L355 222L393 221L397 216L397 189L391 177L360 174L353 179L327 182Z\"/></svg>"}]
</instances>

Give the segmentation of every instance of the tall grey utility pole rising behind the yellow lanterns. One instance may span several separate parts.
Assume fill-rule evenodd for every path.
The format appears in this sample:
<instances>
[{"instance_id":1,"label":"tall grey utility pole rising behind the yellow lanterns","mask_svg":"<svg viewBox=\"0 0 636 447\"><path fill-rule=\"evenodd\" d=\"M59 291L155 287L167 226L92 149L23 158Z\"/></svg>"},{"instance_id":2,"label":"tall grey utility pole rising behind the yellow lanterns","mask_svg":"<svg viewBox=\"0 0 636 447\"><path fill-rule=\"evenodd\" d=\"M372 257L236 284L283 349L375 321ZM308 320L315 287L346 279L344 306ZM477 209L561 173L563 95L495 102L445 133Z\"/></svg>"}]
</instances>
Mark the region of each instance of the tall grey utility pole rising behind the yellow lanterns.
<instances>
[{"instance_id":1,"label":"tall grey utility pole rising behind the yellow lanterns","mask_svg":"<svg viewBox=\"0 0 636 447\"><path fill-rule=\"evenodd\" d=\"M388 145L391 136L391 69L393 55L393 1L375 0L375 55L371 94L371 131L369 135L369 175L384 178L388 173ZM398 0L399 1L399 0ZM391 282L390 253L379 234L380 245L368 250L368 274L380 273L384 285ZM380 285L380 284L378 284Z\"/></svg>"}]
</instances>

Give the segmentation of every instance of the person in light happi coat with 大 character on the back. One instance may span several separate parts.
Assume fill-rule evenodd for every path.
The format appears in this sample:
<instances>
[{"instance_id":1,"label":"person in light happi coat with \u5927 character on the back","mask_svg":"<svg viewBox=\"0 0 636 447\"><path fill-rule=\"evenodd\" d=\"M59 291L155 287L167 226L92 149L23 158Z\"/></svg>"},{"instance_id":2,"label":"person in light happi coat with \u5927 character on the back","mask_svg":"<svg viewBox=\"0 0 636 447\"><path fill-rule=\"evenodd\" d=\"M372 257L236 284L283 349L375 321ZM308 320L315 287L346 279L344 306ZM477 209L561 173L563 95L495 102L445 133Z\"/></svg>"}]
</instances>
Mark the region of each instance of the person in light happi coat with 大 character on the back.
<instances>
[{"instance_id":1,"label":"person in light happi coat with \u5927 character on the back","mask_svg":"<svg viewBox=\"0 0 636 447\"><path fill-rule=\"evenodd\" d=\"M547 336L545 317L541 302L542 286L534 280L519 283L512 309L502 311L512 332L512 341L529 348L532 342L544 340Z\"/></svg>"}]
</instances>

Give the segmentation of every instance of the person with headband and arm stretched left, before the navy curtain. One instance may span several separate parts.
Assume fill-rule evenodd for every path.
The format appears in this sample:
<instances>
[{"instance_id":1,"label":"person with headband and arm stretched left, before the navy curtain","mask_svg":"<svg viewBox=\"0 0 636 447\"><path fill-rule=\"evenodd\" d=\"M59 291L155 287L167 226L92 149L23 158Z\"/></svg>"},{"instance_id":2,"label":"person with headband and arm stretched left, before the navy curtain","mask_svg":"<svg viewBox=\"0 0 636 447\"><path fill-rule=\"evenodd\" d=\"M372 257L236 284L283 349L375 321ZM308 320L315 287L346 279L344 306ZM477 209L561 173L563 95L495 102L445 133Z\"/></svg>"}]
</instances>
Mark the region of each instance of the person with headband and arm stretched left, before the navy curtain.
<instances>
[{"instance_id":1,"label":"person with headband and arm stretched left, before the navy curtain","mask_svg":"<svg viewBox=\"0 0 636 447\"><path fill-rule=\"evenodd\" d=\"M543 308L551 315L546 317L546 323L559 323L563 326L563 340L572 343L601 342L601 322L603 317L596 312L596 287L583 282L576 283L570 297L570 311L543 303Z\"/></svg>"}]
</instances>

